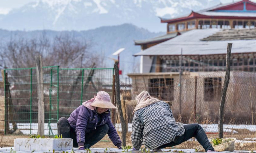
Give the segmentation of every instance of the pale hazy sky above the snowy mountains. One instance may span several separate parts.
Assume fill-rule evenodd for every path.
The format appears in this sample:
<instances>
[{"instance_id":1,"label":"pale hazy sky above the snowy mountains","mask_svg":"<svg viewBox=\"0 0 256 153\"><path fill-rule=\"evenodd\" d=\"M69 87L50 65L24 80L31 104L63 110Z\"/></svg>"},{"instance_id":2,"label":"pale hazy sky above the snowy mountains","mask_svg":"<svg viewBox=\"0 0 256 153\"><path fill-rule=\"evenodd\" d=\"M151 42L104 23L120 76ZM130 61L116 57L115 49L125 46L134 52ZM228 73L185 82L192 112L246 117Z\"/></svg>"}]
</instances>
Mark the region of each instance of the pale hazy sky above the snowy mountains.
<instances>
[{"instance_id":1,"label":"pale hazy sky above the snowy mountains","mask_svg":"<svg viewBox=\"0 0 256 153\"><path fill-rule=\"evenodd\" d=\"M0 0L0 14L7 14L11 9L19 8L29 2L35 2L37 0ZM54 0L53 0L54 1ZM230 3L233 0L220 0L221 3ZM240 0L234 0L240 1ZM256 2L256 0L251 0Z\"/></svg>"}]
</instances>

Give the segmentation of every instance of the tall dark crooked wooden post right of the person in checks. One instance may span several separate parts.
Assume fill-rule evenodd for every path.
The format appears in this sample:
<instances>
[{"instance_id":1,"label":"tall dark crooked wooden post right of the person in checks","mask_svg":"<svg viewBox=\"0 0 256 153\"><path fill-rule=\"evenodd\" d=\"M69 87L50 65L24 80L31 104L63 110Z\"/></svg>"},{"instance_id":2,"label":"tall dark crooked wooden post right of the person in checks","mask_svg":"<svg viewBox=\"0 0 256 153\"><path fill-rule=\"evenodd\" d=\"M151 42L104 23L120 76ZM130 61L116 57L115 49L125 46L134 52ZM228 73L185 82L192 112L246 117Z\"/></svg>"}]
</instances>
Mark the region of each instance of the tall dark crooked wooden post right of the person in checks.
<instances>
[{"instance_id":1,"label":"tall dark crooked wooden post right of the person in checks","mask_svg":"<svg viewBox=\"0 0 256 153\"><path fill-rule=\"evenodd\" d=\"M219 138L223 138L223 118L224 118L224 107L225 107L226 93L227 93L229 77L230 77L231 48L232 48L232 43L228 43L227 58L226 58L226 74L225 74L223 88L221 91L221 100L220 100L220 113L219 113L219 122L218 122Z\"/></svg>"}]
</instances>

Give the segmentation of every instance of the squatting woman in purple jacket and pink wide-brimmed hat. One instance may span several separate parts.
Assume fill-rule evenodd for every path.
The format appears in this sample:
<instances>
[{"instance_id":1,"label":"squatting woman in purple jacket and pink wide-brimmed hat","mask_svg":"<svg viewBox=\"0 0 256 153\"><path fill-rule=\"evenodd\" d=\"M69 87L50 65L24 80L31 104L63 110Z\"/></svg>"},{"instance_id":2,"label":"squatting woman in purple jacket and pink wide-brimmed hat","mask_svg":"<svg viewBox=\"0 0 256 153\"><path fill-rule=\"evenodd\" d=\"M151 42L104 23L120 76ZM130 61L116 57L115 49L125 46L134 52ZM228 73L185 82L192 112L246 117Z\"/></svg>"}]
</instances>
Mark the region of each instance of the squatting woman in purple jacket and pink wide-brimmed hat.
<instances>
[{"instance_id":1,"label":"squatting woman in purple jacket and pink wide-brimmed hat","mask_svg":"<svg viewBox=\"0 0 256 153\"><path fill-rule=\"evenodd\" d=\"M68 119L65 117L59 119L58 135L73 139L73 147L84 150L108 134L113 144L118 149L122 149L120 137L110 120L111 108L117 109L111 103L109 94L99 91L97 96L76 108Z\"/></svg>"}]
</instances>

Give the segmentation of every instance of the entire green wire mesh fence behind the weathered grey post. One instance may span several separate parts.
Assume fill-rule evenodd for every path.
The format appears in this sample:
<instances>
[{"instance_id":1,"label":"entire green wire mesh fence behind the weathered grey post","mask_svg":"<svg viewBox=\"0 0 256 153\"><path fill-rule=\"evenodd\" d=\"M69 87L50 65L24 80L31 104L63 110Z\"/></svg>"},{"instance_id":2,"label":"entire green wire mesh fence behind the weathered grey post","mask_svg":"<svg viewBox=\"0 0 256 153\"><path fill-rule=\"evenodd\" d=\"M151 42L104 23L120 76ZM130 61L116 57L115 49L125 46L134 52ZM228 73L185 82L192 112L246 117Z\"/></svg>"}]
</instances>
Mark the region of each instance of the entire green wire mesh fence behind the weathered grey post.
<instances>
[{"instance_id":1,"label":"entire green wire mesh fence behind the weathered grey post","mask_svg":"<svg viewBox=\"0 0 256 153\"><path fill-rule=\"evenodd\" d=\"M68 118L84 101L106 91L112 96L113 68L60 69L43 67L44 134L57 134L57 121ZM5 69L4 133L37 134L36 68Z\"/></svg>"}]
</instances>

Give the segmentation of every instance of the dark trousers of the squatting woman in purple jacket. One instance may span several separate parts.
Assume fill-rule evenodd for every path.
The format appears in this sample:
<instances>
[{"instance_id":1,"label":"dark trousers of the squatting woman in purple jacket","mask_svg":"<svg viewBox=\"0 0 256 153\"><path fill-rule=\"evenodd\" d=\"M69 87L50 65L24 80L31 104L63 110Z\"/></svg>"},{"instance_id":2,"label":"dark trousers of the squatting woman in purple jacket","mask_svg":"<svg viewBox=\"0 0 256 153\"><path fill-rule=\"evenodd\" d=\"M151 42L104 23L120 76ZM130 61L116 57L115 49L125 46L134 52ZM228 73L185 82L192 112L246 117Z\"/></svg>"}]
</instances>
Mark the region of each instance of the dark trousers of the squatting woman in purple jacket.
<instances>
[{"instance_id":1,"label":"dark trousers of the squatting woman in purple jacket","mask_svg":"<svg viewBox=\"0 0 256 153\"><path fill-rule=\"evenodd\" d=\"M68 120L65 117L61 117L57 123L58 135L62 135L62 138L73 139L73 147L77 148L76 131L70 127ZM91 148L94 144L99 142L108 133L108 125L104 124L96 127L96 129L85 134L84 148Z\"/></svg>"}]
</instances>

